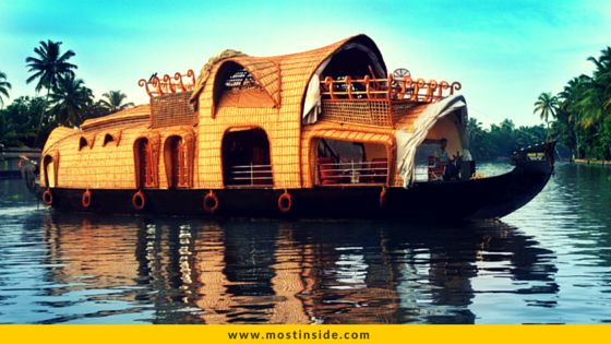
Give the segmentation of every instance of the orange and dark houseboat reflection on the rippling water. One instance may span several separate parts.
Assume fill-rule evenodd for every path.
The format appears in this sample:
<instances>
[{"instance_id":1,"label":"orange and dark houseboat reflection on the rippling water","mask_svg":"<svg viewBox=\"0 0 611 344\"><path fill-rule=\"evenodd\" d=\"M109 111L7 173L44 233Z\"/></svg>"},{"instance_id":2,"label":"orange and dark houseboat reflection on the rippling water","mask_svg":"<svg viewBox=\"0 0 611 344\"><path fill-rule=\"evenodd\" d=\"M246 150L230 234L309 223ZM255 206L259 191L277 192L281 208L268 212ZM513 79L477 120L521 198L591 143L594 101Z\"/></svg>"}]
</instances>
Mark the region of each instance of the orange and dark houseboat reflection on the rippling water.
<instances>
[{"instance_id":1,"label":"orange and dark houseboat reflection on the rippling water","mask_svg":"<svg viewBox=\"0 0 611 344\"><path fill-rule=\"evenodd\" d=\"M480 293L553 306L554 257L532 237L407 226L46 213L39 322L474 323Z\"/></svg>"}]
</instances>

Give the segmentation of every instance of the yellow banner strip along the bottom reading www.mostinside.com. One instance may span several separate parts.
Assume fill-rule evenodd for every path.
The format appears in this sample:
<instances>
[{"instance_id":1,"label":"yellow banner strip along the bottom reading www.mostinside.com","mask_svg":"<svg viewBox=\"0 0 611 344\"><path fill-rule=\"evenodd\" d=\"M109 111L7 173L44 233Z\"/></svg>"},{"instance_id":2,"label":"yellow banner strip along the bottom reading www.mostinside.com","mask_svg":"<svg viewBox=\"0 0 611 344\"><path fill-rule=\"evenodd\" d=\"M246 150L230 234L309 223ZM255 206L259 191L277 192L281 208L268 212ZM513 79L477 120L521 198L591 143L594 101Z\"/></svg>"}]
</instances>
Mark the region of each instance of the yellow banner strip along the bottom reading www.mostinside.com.
<instances>
[{"instance_id":1,"label":"yellow banner strip along the bottom reading www.mostinside.com","mask_svg":"<svg viewBox=\"0 0 611 344\"><path fill-rule=\"evenodd\" d=\"M0 325L2 343L609 343L609 325Z\"/></svg>"}]
</instances>

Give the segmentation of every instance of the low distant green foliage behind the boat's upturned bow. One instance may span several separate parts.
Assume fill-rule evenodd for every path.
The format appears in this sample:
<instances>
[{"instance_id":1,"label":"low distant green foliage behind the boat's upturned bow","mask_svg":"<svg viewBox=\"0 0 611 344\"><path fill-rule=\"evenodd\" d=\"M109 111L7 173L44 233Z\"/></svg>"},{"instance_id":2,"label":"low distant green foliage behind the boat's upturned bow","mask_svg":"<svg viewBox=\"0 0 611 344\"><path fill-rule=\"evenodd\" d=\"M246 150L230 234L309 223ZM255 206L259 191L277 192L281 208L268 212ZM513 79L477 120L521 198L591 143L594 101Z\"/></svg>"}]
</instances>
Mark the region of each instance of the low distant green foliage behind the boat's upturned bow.
<instances>
[{"instance_id":1,"label":"low distant green foliage behind the boat's upturned bow","mask_svg":"<svg viewBox=\"0 0 611 344\"><path fill-rule=\"evenodd\" d=\"M469 118L467 130L470 138L469 150L476 161L510 157L514 151L543 142L547 137L543 126L516 128L511 119L483 129L477 119Z\"/></svg>"}]
</instances>

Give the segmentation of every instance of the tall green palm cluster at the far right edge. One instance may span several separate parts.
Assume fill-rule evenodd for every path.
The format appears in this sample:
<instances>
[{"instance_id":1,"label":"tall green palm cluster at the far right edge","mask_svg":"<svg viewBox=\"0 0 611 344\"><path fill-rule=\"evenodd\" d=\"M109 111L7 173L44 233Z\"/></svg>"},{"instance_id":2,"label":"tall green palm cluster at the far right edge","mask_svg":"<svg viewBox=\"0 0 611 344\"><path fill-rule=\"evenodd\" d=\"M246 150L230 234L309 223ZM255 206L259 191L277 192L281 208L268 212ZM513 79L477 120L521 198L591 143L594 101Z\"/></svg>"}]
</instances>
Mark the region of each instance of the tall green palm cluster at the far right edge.
<instances>
[{"instance_id":1,"label":"tall green palm cluster at the far right edge","mask_svg":"<svg viewBox=\"0 0 611 344\"><path fill-rule=\"evenodd\" d=\"M542 93L535 112L574 157L611 159L611 47L588 61L595 64L591 75L571 79L556 95Z\"/></svg>"}]
</instances>

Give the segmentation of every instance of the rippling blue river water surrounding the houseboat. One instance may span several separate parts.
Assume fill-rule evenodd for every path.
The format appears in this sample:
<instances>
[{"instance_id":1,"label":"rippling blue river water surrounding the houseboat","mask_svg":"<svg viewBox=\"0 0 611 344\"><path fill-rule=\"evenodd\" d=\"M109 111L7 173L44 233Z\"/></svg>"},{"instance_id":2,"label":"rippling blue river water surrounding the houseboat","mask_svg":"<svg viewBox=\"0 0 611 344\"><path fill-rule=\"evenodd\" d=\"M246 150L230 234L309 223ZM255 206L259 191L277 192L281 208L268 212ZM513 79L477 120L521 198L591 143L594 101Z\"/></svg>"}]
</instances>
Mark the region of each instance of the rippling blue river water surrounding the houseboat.
<instances>
[{"instance_id":1,"label":"rippling blue river water surrounding the houseboat","mask_svg":"<svg viewBox=\"0 0 611 344\"><path fill-rule=\"evenodd\" d=\"M560 165L524 209L454 226L65 214L26 192L0 181L0 323L611 322L609 168Z\"/></svg>"}]
</instances>

